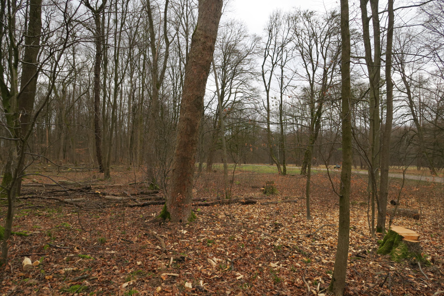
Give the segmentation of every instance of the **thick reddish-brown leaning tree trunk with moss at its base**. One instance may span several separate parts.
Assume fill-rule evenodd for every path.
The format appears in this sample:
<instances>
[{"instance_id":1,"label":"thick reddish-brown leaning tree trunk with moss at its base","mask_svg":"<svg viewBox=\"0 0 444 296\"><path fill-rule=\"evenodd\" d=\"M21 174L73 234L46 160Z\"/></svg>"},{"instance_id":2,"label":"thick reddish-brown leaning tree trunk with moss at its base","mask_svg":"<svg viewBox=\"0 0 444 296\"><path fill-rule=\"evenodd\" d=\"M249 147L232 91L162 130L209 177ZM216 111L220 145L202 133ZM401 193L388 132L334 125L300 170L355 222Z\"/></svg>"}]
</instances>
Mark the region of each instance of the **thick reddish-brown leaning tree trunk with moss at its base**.
<instances>
[{"instance_id":1,"label":"thick reddish-brown leaning tree trunk with moss at its base","mask_svg":"<svg viewBox=\"0 0 444 296\"><path fill-rule=\"evenodd\" d=\"M221 15L222 0L199 1L197 25L185 65L184 91L170 188L161 214L164 218L169 216L173 222L188 222L192 218L192 185L200 115Z\"/></svg>"}]
</instances>

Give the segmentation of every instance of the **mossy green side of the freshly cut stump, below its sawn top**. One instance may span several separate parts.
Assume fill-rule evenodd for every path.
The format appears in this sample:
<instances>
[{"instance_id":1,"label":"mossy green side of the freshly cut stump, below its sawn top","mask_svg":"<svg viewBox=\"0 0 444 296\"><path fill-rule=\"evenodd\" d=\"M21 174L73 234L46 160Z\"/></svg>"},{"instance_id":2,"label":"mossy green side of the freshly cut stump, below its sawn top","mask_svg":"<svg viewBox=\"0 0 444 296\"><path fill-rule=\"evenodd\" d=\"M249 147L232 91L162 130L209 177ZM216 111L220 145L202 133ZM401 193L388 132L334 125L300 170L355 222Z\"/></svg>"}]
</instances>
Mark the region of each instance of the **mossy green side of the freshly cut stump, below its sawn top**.
<instances>
[{"instance_id":1,"label":"mossy green side of the freshly cut stump, below its sawn top","mask_svg":"<svg viewBox=\"0 0 444 296\"><path fill-rule=\"evenodd\" d=\"M400 262L407 259L416 259L428 264L429 261L421 255L419 242L407 241L393 230L389 230L380 243L378 254L390 255L390 259Z\"/></svg>"}]
</instances>

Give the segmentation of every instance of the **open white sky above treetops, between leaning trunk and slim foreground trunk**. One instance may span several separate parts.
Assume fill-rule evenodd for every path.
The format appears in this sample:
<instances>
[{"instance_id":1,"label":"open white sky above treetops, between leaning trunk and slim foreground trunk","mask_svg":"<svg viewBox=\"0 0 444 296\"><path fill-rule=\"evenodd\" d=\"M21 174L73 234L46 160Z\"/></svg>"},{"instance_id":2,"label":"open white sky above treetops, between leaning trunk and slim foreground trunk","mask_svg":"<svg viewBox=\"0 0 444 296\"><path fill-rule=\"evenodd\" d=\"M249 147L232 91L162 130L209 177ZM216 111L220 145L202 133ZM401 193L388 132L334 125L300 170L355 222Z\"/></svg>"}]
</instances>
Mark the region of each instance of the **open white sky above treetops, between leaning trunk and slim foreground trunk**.
<instances>
[{"instance_id":1,"label":"open white sky above treetops, between leaning trunk and slim foreground trunk","mask_svg":"<svg viewBox=\"0 0 444 296\"><path fill-rule=\"evenodd\" d=\"M239 19L251 33L261 35L273 10L289 11L293 7L326 11L339 8L339 0L230 0L223 17Z\"/></svg>"}]
</instances>

